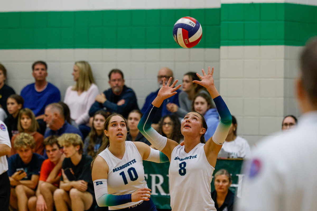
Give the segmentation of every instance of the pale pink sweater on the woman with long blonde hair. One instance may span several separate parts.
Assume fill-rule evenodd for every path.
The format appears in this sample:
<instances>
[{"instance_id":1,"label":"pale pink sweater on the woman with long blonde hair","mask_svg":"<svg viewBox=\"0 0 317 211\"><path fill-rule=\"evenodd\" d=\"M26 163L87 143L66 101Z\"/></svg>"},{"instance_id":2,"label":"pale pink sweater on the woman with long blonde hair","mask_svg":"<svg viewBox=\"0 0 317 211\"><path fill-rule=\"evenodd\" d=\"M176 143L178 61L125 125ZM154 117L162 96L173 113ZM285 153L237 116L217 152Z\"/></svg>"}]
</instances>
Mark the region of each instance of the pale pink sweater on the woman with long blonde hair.
<instances>
[{"instance_id":1,"label":"pale pink sweater on the woman with long blonde hair","mask_svg":"<svg viewBox=\"0 0 317 211\"><path fill-rule=\"evenodd\" d=\"M78 95L77 91L72 90L73 86L69 86L65 93L64 103L70 110L70 117L75 120L77 125L86 124L89 121L89 109L95 102L99 90L96 84L91 84L87 91L83 91Z\"/></svg>"}]
</instances>

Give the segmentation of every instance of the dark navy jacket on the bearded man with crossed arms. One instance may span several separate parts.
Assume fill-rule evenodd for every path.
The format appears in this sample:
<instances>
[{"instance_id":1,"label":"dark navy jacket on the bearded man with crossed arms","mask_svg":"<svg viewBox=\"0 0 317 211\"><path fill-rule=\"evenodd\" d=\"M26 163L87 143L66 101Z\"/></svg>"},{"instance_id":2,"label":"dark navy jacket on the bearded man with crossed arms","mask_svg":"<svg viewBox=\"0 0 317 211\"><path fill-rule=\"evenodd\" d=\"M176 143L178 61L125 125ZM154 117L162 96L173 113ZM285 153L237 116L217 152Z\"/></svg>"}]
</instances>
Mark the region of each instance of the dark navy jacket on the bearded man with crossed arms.
<instances>
[{"instance_id":1,"label":"dark navy jacket on the bearded man with crossed arms","mask_svg":"<svg viewBox=\"0 0 317 211\"><path fill-rule=\"evenodd\" d=\"M123 86L123 90L120 95L115 95L112 89L105 90L103 92L107 98L106 102L101 104L100 102L94 102L94 104L89 109L89 116L94 116L94 113L99 110L106 110L110 113L119 113L124 118L128 118L130 111L134 109L139 109L137 97L131 88L126 85ZM118 106L117 102L124 99L125 103Z\"/></svg>"}]
</instances>

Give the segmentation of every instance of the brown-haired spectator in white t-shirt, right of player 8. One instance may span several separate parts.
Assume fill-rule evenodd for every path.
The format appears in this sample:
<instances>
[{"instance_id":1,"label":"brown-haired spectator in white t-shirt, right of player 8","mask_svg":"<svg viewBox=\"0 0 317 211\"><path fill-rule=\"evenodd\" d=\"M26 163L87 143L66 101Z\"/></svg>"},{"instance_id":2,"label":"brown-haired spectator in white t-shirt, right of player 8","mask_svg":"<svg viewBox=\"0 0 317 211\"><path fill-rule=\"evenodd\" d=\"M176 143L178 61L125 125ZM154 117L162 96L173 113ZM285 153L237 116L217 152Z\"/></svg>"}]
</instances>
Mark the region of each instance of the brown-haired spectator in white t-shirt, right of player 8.
<instances>
[{"instance_id":1,"label":"brown-haired spectator in white t-shirt, right of player 8","mask_svg":"<svg viewBox=\"0 0 317 211\"><path fill-rule=\"evenodd\" d=\"M232 123L222 149L230 153L230 158L249 158L251 155L249 143L237 136L237 126L236 117L232 115Z\"/></svg>"}]
</instances>

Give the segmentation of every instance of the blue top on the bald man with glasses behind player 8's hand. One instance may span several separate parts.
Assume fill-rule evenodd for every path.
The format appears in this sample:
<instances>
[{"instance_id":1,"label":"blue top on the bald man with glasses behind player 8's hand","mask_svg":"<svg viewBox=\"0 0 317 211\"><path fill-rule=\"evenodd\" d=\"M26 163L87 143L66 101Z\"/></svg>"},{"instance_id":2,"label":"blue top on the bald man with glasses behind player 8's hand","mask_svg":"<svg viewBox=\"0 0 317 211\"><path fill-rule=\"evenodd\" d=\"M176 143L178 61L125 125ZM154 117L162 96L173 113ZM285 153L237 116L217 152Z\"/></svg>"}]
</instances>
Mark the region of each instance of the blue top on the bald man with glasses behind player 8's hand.
<instances>
[{"instance_id":1,"label":"blue top on the bald man with glasses behind player 8's hand","mask_svg":"<svg viewBox=\"0 0 317 211\"><path fill-rule=\"evenodd\" d=\"M158 112L156 112L154 118L153 118L153 123L157 124L159 123L159 120L161 119L162 116L165 115L170 115L172 114L171 112L169 112L166 108L167 103L172 102L175 103L176 105L179 106L179 102L178 102L178 95L181 91L177 91L176 95L173 95L167 99L165 99L161 105L161 107L159 108ZM153 100L155 99L156 96L158 96L159 93L159 89L156 90L155 92L150 93L145 100L145 103L143 105L143 108L141 109L142 114L144 114L146 112L146 109L148 109L150 107L150 105L152 104ZM161 111L161 112L160 112Z\"/></svg>"}]
</instances>

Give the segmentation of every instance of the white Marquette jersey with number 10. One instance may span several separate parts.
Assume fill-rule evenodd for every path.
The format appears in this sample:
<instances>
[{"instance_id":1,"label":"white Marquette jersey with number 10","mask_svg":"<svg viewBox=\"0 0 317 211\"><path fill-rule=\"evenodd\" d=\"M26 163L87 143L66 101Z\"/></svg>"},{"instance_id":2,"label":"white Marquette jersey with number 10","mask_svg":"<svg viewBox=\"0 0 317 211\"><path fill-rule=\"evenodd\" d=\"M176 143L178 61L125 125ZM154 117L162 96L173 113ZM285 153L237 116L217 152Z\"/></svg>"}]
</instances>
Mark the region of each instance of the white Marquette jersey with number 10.
<instances>
[{"instance_id":1,"label":"white Marquette jersey with number 10","mask_svg":"<svg viewBox=\"0 0 317 211\"><path fill-rule=\"evenodd\" d=\"M142 157L132 141L126 141L126 151L122 159L115 157L108 148L100 152L109 166L108 194L132 194L140 188L147 188L144 178ZM109 207L109 210L127 208L142 202L129 202L118 206Z\"/></svg>"}]
</instances>

